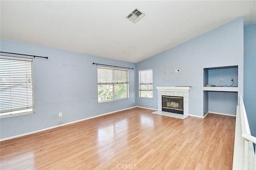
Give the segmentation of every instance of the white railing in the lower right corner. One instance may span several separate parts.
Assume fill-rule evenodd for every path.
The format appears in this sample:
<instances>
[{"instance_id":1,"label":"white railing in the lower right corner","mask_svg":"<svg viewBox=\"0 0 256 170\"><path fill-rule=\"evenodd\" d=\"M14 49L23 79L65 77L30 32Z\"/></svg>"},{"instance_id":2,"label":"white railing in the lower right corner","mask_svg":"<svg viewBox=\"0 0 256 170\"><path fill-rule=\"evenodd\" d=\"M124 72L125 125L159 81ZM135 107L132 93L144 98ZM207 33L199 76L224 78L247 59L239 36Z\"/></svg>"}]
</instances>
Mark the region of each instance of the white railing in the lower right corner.
<instances>
[{"instance_id":1,"label":"white railing in the lower right corner","mask_svg":"<svg viewBox=\"0 0 256 170\"><path fill-rule=\"evenodd\" d=\"M253 143L256 143L256 137L251 135L243 98L239 96L239 106L236 108L233 170L256 170Z\"/></svg>"}]
</instances>

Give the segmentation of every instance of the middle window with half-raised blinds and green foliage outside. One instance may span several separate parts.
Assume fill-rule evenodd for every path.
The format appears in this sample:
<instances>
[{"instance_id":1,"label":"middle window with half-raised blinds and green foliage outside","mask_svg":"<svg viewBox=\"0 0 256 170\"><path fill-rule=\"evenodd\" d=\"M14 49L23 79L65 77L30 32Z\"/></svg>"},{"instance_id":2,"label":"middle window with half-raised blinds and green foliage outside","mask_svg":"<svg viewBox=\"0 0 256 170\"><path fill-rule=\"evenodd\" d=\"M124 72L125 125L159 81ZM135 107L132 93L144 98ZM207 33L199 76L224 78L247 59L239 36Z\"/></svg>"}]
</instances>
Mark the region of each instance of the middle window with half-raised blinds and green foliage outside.
<instances>
[{"instance_id":1,"label":"middle window with half-raised blinds and green foliage outside","mask_svg":"<svg viewBox=\"0 0 256 170\"><path fill-rule=\"evenodd\" d=\"M98 67L98 102L128 98L128 70Z\"/></svg>"}]
</instances>

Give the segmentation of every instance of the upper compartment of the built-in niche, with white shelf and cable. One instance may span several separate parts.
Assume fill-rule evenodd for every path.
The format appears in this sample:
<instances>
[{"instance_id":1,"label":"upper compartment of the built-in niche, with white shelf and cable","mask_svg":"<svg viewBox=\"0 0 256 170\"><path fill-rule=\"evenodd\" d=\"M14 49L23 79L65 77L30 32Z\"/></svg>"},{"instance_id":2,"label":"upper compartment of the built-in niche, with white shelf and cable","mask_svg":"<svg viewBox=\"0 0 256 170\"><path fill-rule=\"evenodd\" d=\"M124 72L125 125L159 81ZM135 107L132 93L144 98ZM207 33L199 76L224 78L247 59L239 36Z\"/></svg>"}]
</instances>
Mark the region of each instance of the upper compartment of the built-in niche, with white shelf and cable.
<instances>
[{"instance_id":1,"label":"upper compartment of the built-in niche, with white shelf and cable","mask_svg":"<svg viewBox=\"0 0 256 170\"><path fill-rule=\"evenodd\" d=\"M220 78L223 81L220 81ZM234 84L231 81L234 80ZM213 87L206 87L206 84L214 85ZM222 67L212 67L204 68L204 90L215 89L216 91L237 91L238 87L238 66L222 66ZM230 90L225 89L230 88ZM210 91L213 91L210 90Z\"/></svg>"}]
</instances>

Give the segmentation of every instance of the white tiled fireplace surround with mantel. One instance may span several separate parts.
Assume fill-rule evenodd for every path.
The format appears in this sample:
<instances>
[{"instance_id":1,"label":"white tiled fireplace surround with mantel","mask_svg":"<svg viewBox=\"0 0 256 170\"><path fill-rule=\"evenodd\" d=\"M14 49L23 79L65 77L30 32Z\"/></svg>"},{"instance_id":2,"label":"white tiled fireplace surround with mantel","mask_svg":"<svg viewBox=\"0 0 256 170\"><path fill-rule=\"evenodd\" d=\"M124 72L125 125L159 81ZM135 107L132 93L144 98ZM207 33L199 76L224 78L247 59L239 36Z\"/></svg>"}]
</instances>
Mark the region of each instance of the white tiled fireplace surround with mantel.
<instances>
[{"instance_id":1,"label":"white tiled fireplace surround with mantel","mask_svg":"<svg viewBox=\"0 0 256 170\"><path fill-rule=\"evenodd\" d=\"M183 97L183 113L189 115L189 90L190 87L156 86L158 91L158 110L162 111L162 96Z\"/></svg>"}]
</instances>

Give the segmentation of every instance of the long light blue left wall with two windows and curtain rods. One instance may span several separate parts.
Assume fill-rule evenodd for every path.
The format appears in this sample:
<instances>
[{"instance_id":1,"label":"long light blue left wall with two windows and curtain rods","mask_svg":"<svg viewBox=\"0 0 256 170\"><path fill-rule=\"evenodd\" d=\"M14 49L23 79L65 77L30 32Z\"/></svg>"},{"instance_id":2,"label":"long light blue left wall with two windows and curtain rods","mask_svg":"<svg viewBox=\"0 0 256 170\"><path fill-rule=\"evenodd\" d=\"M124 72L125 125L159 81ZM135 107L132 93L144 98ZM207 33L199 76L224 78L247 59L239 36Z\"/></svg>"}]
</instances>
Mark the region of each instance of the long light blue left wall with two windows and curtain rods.
<instances>
[{"instance_id":1,"label":"long light blue left wall with two windows and curtain rods","mask_svg":"<svg viewBox=\"0 0 256 170\"><path fill-rule=\"evenodd\" d=\"M34 59L35 114L0 119L1 139L135 106L136 69L129 70L129 99L98 104L97 66L135 63L1 39L1 51L47 56ZM62 117L58 113L62 112Z\"/></svg>"}]
</instances>

